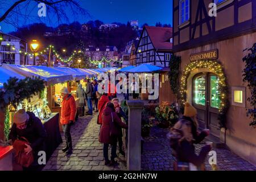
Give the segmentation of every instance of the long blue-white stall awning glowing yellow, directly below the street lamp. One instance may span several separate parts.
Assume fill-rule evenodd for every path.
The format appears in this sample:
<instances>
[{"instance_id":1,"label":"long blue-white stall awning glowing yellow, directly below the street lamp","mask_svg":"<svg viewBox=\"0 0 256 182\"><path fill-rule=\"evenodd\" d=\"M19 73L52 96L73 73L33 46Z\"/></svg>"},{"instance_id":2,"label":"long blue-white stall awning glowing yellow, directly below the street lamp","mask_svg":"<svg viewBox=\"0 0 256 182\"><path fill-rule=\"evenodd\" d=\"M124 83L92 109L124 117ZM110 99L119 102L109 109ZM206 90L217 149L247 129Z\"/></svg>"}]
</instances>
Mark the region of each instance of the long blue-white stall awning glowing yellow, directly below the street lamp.
<instances>
[{"instance_id":1,"label":"long blue-white stall awning glowing yellow, directly below the street lamp","mask_svg":"<svg viewBox=\"0 0 256 182\"><path fill-rule=\"evenodd\" d=\"M31 66L31 65L15 65L15 64L2 64L3 68L9 69L19 75L32 77L37 76L42 78L48 84L58 84L61 82L73 80L71 74L58 71L56 69L46 66Z\"/></svg>"}]
</instances>

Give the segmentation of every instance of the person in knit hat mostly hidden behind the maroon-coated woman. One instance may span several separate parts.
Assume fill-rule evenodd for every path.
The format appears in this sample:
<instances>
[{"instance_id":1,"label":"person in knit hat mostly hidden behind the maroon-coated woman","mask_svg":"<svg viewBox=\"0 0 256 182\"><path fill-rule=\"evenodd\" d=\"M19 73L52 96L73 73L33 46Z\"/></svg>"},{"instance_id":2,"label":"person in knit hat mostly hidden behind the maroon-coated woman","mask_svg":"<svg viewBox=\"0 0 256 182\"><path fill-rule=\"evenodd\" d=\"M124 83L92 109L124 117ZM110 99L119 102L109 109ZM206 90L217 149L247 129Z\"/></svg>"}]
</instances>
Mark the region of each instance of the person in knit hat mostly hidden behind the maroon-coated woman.
<instances>
[{"instance_id":1,"label":"person in knit hat mostly hidden behind the maroon-coated woman","mask_svg":"<svg viewBox=\"0 0 256 182\"><path fill-rule=\"evenodd\" d=\"M113 98L112 103L114 104L114 108L115 108L115 113L117 113L118 117L121 119L125 119L126 120L126 115L125 112L123 111L122 107L120 107L119 105L119 100L118 98ZM118 146L119 146L119 153L122 154L123 156L125 156L125 152L123 151L123 132L122 132L122 128L118 127L119 130L119 136L118 136Z\"/></svg>"}]
</instances>

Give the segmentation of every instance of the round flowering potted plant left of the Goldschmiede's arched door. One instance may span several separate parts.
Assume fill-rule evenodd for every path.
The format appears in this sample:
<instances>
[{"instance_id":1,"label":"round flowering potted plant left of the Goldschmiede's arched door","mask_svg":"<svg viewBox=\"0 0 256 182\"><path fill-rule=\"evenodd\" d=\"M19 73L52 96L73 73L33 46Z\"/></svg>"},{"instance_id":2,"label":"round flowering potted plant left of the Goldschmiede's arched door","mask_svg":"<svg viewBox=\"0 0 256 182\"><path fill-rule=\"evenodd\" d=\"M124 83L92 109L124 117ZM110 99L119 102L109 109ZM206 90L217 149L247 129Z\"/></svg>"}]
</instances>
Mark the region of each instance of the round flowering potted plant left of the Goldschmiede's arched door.
<instances>
[{"instance_id":1,"label":"round flowering potted plant left of the Goldschmiede's arched door","mask_svg":"<svg viewBox=\"0 0 256 182\"><path fill-rule=\"evenodd\" d=\"M175 106L171 105L170 102L162 102L158 107L155 108L155 111L156 120L158 121L159 127L173 127L179 119Z\"/></svg>"}]
</instances>

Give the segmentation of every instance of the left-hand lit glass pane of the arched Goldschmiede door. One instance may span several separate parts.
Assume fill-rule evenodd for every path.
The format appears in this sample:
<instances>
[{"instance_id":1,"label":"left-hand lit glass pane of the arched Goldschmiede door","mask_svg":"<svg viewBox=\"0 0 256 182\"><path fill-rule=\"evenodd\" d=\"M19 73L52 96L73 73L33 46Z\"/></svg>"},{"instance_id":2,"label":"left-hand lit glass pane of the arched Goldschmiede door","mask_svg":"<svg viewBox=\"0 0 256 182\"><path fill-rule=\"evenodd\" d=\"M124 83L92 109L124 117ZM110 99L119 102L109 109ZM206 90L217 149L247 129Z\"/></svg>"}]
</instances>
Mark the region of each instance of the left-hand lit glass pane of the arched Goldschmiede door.
<instances>
[{"instance_id":1,"label":"left-hand lit glass pane of the arched Goldschmiede door","mask_svg":"<svg viewBox=\"0 0 256 182\"><path fill-rule=\"evenodd\" d=\"M196 104L205 106L205 76L197 77L194 80Z\"/></svg>"}]
</instances>

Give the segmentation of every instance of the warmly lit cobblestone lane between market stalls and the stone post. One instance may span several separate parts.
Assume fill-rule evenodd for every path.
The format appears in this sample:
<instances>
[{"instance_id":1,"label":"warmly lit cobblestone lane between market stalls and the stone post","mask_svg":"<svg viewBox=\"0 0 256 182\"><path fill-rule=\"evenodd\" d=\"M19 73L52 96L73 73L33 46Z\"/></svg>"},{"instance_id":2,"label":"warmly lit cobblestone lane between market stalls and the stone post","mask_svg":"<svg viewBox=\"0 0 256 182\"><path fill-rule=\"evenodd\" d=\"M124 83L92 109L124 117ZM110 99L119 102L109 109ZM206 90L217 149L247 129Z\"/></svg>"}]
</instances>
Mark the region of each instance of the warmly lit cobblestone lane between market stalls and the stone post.
<instances>
[{"instance_id":1,"label":"warmly lit cobblestone lane between market stalls and the stone post","mask_svg":"<svg viewBox=\"0 0 256 182\"><path fill-rule=\"evenodd\" d=\"M55 152L53 152L43 170L125 171L126 163L124 162L118 162L119 165L115 167L104 165L103 144L98 141L100 125L97 125L96 120L97 114L94 114L93 117L86 116L80 118L71 127L73 154L68 157L65 156L61 151L65 144L64 142L61 143ZM63 133L61 133L61 137L65 141Z\"/></svg>"}]
</instances>

